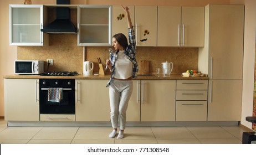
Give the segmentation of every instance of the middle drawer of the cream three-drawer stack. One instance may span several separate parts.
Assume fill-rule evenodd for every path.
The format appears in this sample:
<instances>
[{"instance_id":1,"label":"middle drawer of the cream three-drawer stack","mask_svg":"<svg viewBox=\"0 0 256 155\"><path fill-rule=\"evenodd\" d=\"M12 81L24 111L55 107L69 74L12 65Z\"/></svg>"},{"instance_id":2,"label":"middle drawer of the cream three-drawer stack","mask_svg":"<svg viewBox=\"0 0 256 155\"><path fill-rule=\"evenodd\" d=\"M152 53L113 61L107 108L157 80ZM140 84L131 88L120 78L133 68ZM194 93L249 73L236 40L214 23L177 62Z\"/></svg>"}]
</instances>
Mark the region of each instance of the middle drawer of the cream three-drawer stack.
<instances>
[{"instance_id":1,"label":"middle drawer of the cream three-drawer stack","mask_svg":"<svg viewBox=\"0 0 256 155\"><path fill-rule=\"evenodd\" d=\"M176 100L207 100L207 90L176 90Z\"/></svg>"}]
</instances>

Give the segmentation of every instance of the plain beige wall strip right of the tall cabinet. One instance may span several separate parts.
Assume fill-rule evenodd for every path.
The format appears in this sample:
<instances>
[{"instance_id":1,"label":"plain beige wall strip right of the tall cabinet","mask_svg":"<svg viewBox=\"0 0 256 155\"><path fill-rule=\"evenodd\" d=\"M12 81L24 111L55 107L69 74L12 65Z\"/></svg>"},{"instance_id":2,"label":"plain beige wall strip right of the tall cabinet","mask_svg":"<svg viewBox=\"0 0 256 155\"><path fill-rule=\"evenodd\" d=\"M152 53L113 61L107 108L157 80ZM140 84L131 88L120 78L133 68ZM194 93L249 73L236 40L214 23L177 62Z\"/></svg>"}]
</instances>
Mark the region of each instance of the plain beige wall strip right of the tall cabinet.
<instances>
[{"instance_id":1,"label":"plain beige wall strip right of the tall cabinet","mask_svg":"<svg viewBox=\"0 0 256 155\"><path fill-rule=\"evenodd\" d=\"M252 123L247 122L245 120L245 117L253 115L256 1L231 0L231 4L245 5L243 96L241 123L248 128L252 128Z\"/></svg>"}]
</instances>

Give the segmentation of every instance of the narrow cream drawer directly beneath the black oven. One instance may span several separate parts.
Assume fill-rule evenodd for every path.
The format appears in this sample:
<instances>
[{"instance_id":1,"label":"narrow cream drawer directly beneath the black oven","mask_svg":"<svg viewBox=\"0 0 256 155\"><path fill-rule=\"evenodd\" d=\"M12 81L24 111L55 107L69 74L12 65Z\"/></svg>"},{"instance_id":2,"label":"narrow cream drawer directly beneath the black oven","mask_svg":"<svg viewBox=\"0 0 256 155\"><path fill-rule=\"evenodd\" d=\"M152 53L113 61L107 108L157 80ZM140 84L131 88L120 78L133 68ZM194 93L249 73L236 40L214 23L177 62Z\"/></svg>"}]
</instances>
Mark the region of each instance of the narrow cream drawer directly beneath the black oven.
<instances>
[{"instance_id":1,"label":"narrow cream drawer directly beneath the black oven","mask_svg":"<svg viewBox=\"0 0 256 155\"><path fill-rule=\"evenodd\" d=\"M75 115L40 114L40 121L75 121Z\"/></svg>"}]
</instances>

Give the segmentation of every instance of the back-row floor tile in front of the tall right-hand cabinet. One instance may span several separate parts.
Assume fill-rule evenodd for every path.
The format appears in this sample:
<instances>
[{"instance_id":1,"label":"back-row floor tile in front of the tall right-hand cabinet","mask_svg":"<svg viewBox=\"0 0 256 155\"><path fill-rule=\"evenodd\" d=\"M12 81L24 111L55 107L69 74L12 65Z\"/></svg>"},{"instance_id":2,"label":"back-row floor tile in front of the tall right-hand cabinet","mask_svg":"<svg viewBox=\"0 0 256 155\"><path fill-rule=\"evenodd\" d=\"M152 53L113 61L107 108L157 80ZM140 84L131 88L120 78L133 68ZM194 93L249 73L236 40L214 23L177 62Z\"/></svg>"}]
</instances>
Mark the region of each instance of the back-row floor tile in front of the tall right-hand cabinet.
<instances>
[{"instance_id":1,"label":"back-row floor tile in front of the tall right-hand cabinet","mask_svg":"<svg viewBox=\"0 0 256 155\"><path fill-rule=\"evenodd\" d=\"M231 133L227 132L221 127L187 127L191 133L199 138L235 138Z\"/></svg>"}]
</instances>

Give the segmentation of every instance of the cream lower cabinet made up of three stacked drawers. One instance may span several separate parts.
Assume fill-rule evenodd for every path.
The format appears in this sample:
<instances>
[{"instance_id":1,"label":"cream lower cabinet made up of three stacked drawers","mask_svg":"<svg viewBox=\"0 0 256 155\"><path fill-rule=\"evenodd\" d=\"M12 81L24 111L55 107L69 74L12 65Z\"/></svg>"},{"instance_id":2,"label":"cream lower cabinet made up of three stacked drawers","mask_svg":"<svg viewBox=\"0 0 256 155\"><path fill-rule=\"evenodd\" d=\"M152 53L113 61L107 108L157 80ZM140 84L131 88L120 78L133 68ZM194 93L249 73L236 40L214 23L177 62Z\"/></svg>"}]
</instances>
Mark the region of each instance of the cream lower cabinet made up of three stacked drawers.
<instances>
[{"instance_id":1,"label":"cream lower cabinet made up of three stacked drawers","mask_svg":"<svg viewBox=\"0 0 256 155\"><path fill-rule=\"evenodd\" d=\"M177 80L176 121L207 121L208 80Z\"/></svg>"}]
</instances>

